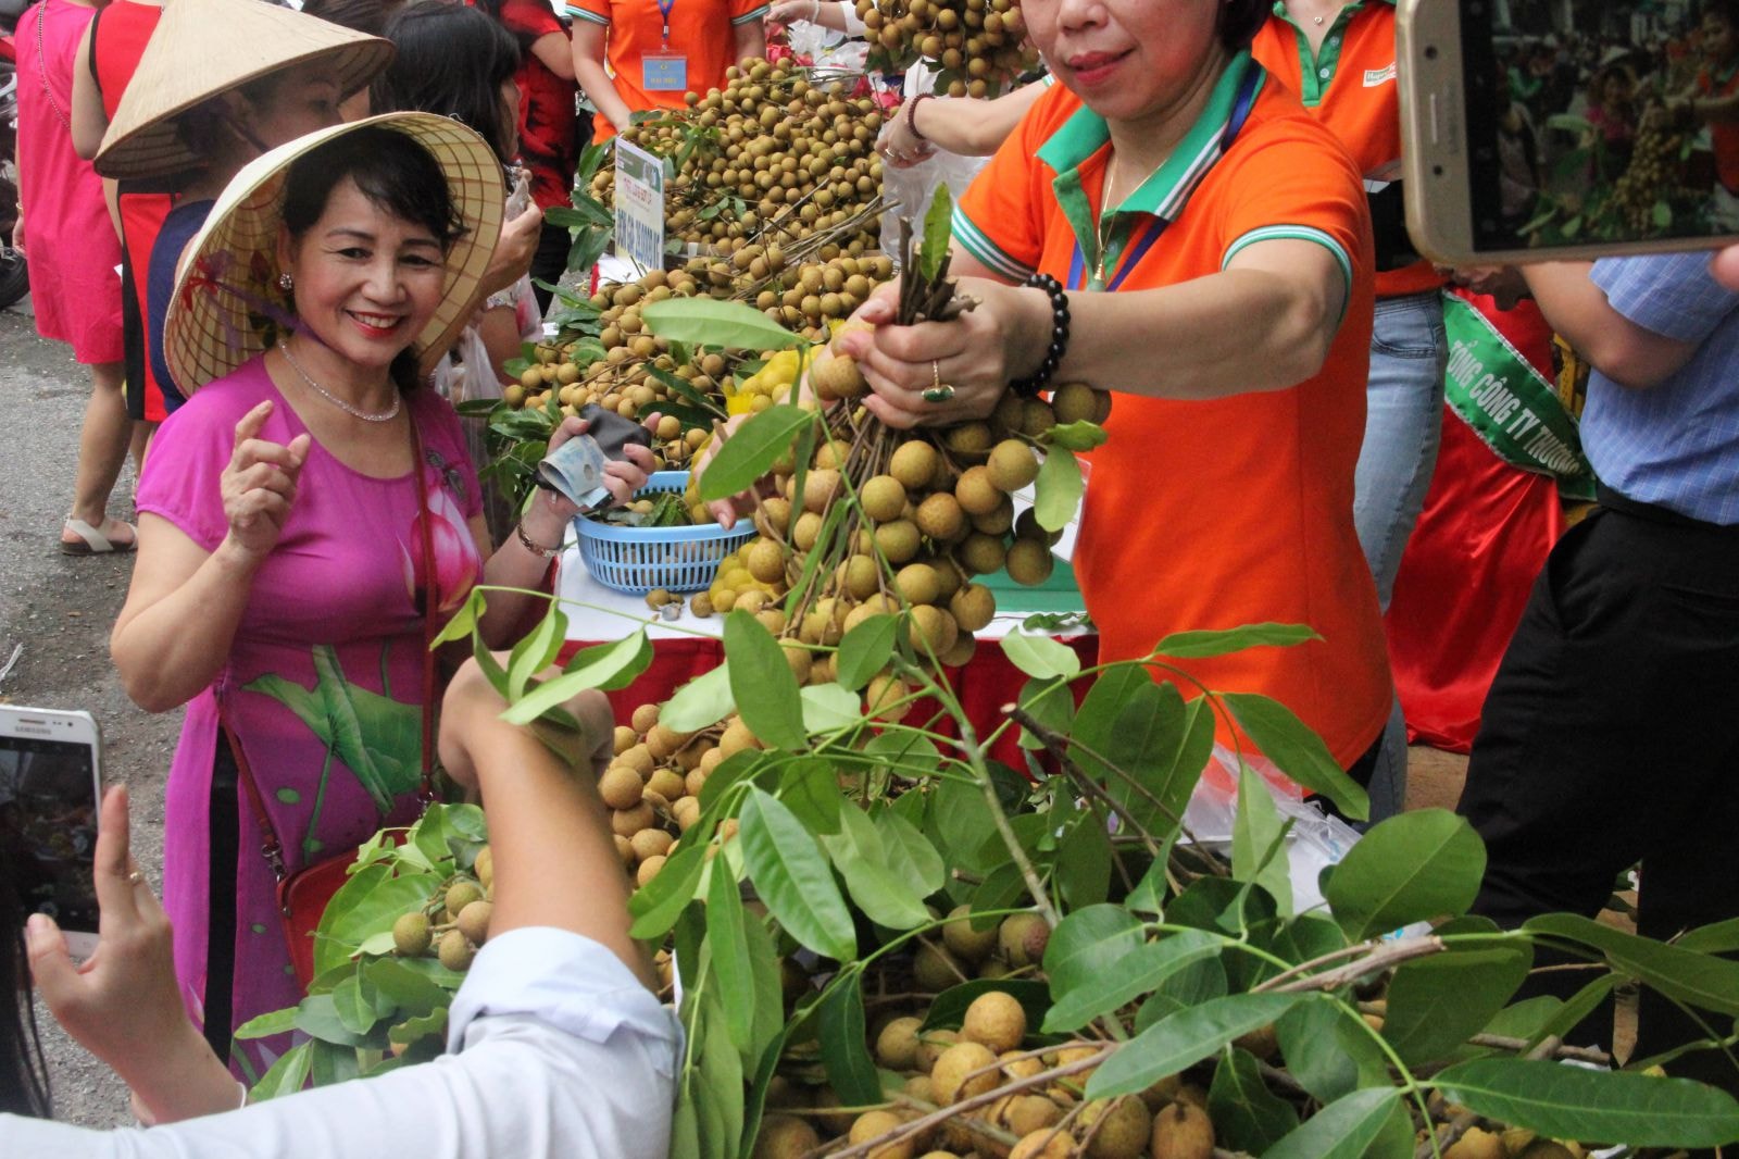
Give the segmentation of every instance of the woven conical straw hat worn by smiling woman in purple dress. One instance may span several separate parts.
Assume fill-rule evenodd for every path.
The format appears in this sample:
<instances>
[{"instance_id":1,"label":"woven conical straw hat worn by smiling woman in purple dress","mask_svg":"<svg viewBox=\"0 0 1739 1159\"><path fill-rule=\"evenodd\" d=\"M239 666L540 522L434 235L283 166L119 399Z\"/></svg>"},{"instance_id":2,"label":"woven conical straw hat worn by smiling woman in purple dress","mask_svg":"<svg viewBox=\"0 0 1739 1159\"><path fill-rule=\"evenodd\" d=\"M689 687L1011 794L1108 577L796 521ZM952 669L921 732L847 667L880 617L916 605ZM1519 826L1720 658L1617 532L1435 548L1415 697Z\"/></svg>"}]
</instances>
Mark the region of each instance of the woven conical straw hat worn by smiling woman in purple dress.
<instances>
[{"instance_id":1,"label":"woven conical straw hat worn by smiling woman in purple dress","mask_svg":"<svg viewBox=\"0 0 1739 1159\"><path fill-rule=\"evenodd\" d=\"M296 327L278 289L278 228L290 164L365 125L403 132L428 150L447 176L464 223L464 237L447 252L440 306L410 346L424 372L445 352L447 338L470 318L478 282L501 237L506 200L501 162L489 143L457 120L433 113L384 113L322 129L249 162L195 235L193 256L176 278L163 324L163 357L184 393L230 374Z\"/></svg>"}]
</instances>

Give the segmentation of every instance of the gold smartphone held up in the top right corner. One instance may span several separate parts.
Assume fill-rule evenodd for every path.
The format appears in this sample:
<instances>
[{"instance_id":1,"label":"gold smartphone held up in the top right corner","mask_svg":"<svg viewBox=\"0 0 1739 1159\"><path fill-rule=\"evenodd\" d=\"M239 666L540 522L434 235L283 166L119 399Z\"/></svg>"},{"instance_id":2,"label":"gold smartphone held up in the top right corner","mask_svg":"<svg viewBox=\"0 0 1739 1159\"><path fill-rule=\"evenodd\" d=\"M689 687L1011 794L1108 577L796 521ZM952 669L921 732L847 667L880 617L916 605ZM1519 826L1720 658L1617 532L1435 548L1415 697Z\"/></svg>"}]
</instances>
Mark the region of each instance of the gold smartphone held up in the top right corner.
<instances>
[{"instance_id":1,"label":"gold smartphone held up in the top right corner","mask_svg":"<svg viewBox=\"0 0 1739 1159\"><path fill-rule=\"evenodd\" d=\"M1718 111L1739 106L1739 28L1725 17L1657 0L1402 0L1396 28L1407 228L1424 256L1739 240L1739 115Z\"/></svg>"}]
</instances>

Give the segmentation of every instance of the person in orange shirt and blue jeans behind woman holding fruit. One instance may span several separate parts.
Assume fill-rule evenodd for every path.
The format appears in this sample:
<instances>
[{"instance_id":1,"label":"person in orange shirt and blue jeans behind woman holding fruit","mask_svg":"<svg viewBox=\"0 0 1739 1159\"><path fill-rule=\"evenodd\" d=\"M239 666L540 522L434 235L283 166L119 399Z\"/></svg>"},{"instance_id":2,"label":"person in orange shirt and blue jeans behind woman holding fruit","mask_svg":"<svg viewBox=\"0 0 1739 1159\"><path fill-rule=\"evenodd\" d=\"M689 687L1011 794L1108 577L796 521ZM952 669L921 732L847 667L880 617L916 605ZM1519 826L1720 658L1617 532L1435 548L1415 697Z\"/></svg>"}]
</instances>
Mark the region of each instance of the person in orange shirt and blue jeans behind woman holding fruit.
<instances>
[{"instance_id":1,"label":"person in orange shirt and blue jeans behind woman holding fruit","mask_svg":"<svg viewBox=\"0 0 1739 1159\"><path fill-rule=\"evenodd\" d=\"M1358 454L1353 520L1377 600L1389 607L1402 552L1419 522L1443 430L1445 277L1419 258L1402 209L1402 118L1391 0L1282 0L1250 54L1292 89L1360 169L1377 254L1377 305ZM1400 700L1372 778L1377 809L1407 795L1407 724Z\"/></svg>"}]
</instances>

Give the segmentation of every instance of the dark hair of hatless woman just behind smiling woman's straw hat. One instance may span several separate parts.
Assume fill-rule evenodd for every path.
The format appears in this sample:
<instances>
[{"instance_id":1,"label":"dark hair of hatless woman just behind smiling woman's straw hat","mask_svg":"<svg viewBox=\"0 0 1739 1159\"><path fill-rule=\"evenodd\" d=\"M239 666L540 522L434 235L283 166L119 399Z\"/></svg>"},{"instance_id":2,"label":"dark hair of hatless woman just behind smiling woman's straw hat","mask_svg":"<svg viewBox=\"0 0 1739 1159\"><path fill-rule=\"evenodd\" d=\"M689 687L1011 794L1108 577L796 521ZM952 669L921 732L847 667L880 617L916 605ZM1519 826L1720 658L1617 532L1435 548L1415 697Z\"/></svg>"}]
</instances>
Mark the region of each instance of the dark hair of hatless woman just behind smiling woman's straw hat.
<instances>
[{"instance_id":1,"label":"dark hair of hatless woman just behind smiling woman's straw hat","mask_svg":"<svg viewBox=\"0 0 1739 1159\"><path fill-rule=\"evenodd\" d=\"M506 165L518 125L503 124L501 85L520 66L513 35L463 3L416 3L386 23L398 56L374 78L376 113L438 113L483 134Z\"/></svg>"}]
</instances>

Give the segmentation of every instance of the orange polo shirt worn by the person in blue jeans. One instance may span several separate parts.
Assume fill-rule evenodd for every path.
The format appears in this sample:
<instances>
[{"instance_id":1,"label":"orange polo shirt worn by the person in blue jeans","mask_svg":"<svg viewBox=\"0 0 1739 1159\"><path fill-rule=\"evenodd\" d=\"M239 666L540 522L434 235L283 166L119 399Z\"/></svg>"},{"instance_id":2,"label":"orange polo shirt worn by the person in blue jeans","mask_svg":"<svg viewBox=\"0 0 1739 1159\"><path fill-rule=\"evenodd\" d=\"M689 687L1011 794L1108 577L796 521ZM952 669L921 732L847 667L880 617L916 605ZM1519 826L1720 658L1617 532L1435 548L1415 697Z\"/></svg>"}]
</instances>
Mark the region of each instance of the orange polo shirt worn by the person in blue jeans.
<instances>
[{"instance_id":1,"label":"orange polo shirt worn by the person in blue jeans","mask_svg":"<svg viewBox=\"0 0 1739 1159\"><path fill-rule=\"evenodd\" d=\"M1287 14L1285 2L1276 0L1275 14L1250 44L1250 54L1341 139L1358 164L1367 190L1400 181L1402 104L1391 0L1348 3L1315 54L1309 37ZM1443 284L1429 261L1417 261L1379 271L1377 298L1417 294Z\"/></svg>"}]
</instances>

